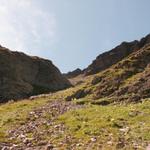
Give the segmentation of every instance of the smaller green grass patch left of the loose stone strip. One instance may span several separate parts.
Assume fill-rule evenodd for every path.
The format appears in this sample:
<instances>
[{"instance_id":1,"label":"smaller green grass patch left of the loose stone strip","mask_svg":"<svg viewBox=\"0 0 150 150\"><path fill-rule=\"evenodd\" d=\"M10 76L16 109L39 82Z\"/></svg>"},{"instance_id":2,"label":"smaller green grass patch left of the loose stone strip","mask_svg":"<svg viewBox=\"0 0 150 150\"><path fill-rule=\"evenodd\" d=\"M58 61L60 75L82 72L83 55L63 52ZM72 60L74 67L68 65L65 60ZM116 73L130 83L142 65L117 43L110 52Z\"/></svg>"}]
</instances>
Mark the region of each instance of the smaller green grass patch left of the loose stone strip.
<instances>
[{"instance_id":1,"label":"smaller green grass patch left of the loose stone strip","mask_svg":"<svg viewBox=\"0 0 150 150\"><path fill-rule=\"evenodd\" d=\"M7 131L24 124L28 120L29 112L46 102L47 99L37 98L0 105L0 142L7 142Z\"/></svg>"}]
</instances>

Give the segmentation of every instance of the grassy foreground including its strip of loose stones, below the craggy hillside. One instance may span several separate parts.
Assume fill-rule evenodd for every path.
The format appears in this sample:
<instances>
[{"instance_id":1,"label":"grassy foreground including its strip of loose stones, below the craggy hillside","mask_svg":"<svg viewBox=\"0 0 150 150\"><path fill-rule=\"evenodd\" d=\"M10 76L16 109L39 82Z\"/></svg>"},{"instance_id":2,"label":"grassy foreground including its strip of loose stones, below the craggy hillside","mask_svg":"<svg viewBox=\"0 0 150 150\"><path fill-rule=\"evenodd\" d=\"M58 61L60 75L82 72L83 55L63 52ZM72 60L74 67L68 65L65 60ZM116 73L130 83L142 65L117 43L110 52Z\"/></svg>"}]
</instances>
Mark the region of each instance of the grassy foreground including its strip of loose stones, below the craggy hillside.
<instances>
[{"instance_id":1,"label":"grassy foreground including its strip of loose stones, below the craggy hillside","mask_svg":"<svg viewBox=\"0 0 150 150\"><path fill-rule=\"evenodd\" d=\"M0 106L0 149L141 149L150 143L150 100L79 105L57 94ZM54 97L57 99L54 99Z\"/></svg>"}]
</instances>

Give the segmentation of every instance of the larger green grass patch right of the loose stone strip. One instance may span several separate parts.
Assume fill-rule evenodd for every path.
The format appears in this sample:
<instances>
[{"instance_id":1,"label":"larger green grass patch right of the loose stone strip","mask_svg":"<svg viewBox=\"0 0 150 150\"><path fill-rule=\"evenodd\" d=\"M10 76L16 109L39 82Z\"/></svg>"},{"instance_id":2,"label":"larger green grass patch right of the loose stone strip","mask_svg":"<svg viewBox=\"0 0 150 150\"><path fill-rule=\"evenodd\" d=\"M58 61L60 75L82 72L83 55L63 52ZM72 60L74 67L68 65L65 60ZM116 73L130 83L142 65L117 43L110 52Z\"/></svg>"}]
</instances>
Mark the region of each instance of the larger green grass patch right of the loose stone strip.
<instances>
[{"instance_id":1,"label":"larger green grass patch right of the loose stone strip","mask_svg":"<svg viewBox=\"0 0 150 150\"><path fill-rule=\"evenodd\" d=\"M111 139L114 149L120 138L126 142L128 149L132 149L134 143L139 145L139 149L150 143L150 101L124 106L89 104L86 108L60 116L59 122L67 126L64 135L82 139L84 144L92 137L98 139L95 145L102 143L105 148ZM126 128L128 131L121 132Z\"/></svg>"}]
</instances>

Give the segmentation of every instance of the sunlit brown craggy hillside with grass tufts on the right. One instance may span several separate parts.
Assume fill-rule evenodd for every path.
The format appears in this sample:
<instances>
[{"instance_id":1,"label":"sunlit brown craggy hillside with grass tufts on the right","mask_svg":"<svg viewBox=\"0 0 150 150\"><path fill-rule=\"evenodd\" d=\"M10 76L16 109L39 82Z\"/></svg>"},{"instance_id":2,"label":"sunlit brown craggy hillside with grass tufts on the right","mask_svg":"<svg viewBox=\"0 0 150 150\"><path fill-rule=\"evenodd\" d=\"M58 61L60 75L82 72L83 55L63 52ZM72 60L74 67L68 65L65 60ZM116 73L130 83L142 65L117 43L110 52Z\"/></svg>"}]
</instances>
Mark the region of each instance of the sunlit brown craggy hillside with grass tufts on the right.
<instances>
[{"instance_id":1,"label":"sunlit brown craggy hillside with grass tufts on the right","mask_svg":"<svg viewBox=\"0 0 150 150\"><path fill-rule=\"evenodd\" d=\"M111 101L139 101L148 98L150 90L150 44L134 51L112 67L84 79L76 86L67 100L90 97Z\"/></svg>"}]
</instances>

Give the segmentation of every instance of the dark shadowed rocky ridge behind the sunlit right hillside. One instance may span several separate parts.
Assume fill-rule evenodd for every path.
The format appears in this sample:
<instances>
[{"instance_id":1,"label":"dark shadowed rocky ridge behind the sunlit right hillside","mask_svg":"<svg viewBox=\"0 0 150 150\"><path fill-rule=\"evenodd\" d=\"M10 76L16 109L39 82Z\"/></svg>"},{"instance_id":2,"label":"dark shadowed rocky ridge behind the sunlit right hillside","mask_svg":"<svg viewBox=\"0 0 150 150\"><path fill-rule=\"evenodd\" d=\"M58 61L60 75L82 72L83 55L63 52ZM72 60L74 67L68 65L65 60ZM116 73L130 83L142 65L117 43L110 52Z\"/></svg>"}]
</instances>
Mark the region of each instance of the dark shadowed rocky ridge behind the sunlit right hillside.
<instances>
[{"instance_id":1,"label":"dark shadowed rocky ridge behind the sunlit right hillside","mask_svg":"<svg viewBox=\"0 0 150 150\"><path fill-rule=\"evenodd\" d=\"M96 74L100 71L103 71L117 62L121 61L132 52L139 50L147 43L150 43L150 35L141 39L140 41L133 42L123 42L121 45L112 49L111 51L100 54L91 65L89 65L85 70L85 75Z\"/></svg>"}]
</instances>

